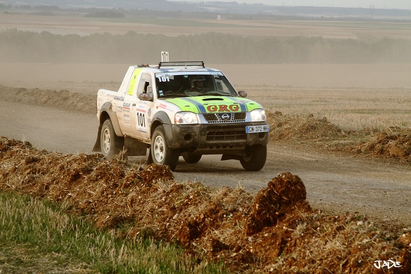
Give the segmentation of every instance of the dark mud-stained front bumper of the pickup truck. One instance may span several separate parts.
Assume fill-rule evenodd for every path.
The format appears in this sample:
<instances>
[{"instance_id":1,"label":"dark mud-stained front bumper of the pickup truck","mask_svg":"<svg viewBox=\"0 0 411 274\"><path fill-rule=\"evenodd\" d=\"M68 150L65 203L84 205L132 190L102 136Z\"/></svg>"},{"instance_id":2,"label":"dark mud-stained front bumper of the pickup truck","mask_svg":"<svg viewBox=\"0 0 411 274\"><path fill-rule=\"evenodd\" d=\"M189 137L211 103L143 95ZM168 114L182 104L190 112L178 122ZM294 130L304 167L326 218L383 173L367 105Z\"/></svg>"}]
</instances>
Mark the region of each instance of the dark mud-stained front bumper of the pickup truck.
<instances>
[{"instance_id":1,"label":"dark mud-stained front bumper of the pickup truck","mask_svg":"<svg viewBox=\"0 0 411 274\"><path fill-rule=\"evenodd\" d=\"M267 122L230 124L163 124L167 144L180 153L240 154L247 146L266 145L269 132L246 133L246 126L267 125Z\"/></svg>"}]
</instances>

